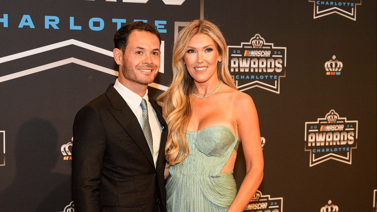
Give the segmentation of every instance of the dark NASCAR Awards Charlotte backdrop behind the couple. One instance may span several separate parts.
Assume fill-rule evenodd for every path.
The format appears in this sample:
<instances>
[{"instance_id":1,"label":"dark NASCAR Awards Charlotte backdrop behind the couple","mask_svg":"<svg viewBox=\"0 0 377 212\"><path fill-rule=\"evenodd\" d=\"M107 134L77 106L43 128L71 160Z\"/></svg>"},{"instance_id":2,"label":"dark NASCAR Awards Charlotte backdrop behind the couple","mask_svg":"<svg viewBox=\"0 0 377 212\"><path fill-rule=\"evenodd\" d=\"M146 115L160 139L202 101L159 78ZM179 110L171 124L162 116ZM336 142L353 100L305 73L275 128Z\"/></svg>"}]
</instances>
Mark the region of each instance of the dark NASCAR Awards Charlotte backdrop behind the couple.
<instances>
[{"instance_id":1,"label":"dark NASCAR Awards Charlotte backdrop behind the couple","mask_svg":"<svg viewBox=\"0 0 377 212\"><path fill-rule=\"evenodd\" d=\"M158 27L156 97L176 34L199 18L224 33L259 115L264 179L245 211L376 211L376 2L361 0L3 0L0 211L74 211L72 124L117 78L115 31Z\"/></svg>"}]
</instances>

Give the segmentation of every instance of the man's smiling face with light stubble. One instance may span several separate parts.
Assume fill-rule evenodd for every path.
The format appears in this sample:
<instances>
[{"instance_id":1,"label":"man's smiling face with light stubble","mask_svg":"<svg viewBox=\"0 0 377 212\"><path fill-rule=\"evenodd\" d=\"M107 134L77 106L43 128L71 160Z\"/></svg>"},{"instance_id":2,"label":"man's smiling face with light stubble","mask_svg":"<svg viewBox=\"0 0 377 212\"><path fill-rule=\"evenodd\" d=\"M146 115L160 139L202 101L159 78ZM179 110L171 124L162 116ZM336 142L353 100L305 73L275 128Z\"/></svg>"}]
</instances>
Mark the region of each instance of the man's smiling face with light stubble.
<instances>
[{"instance_id":1,"label":"man's smiling face with light stubble","mask_svg":"<svg viewBox=\"0 0 377 212\"><path fill-rule=\"evenodd\" d=\"M151 32L133 31L123 54L123 77L129 83L147 85L160 68L160 41Z\"/></svg>"}]
</instances>

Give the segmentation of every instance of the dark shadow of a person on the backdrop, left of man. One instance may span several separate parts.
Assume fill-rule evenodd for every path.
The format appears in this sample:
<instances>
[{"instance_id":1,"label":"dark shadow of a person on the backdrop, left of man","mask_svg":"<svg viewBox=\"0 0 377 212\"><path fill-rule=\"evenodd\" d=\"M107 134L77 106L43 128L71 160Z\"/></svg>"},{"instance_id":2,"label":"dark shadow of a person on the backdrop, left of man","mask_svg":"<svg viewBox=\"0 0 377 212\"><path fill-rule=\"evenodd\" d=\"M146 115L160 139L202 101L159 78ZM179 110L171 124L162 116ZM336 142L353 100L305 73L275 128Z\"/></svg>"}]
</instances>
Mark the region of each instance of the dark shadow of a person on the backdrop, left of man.
<instances>
[{"instance_id":1,"label":"dark shadow of a person on the backdrop, left of man","mask_svg":"<svg viewBox=\"0 0 377 212\"><path fill-rule=\"evenodd\" d=\"M58 131L50 121L35 118L21 125L14 149L16 175L11 186L0 194L2 212L64 209L46 202L63 198L61 195L70 198L70 192L54 194L54 189L67 179L66 175L51 173L58 160L57 143ZM38 206L41 204L44 206Z\"/></svg>"}]
</instances>

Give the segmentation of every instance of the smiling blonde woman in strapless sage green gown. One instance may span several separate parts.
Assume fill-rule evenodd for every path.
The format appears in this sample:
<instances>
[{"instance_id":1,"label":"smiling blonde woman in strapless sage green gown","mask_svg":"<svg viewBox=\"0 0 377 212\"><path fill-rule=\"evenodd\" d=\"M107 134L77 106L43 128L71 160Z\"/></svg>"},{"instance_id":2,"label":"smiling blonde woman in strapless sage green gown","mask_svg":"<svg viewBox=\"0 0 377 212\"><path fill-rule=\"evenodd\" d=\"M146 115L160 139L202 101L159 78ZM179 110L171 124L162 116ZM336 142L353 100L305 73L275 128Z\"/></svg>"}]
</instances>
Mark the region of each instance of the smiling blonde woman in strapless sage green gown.
<instances>
[{"instance_id":1,"label":"smiling blonde woman in strapless sage green gown","mask_svg":"<svg viewBox=\"0 0 377 212\"><path fill-rule=\"evenodd\" d=\"M182 29L173 47L173 80L158 98L169 126L168 212L242 212L263 178L257 112L228 71L225 39L207 20ZM246 176L239 191L233 167L239 143Z\"/></svg>"}]
</instances>

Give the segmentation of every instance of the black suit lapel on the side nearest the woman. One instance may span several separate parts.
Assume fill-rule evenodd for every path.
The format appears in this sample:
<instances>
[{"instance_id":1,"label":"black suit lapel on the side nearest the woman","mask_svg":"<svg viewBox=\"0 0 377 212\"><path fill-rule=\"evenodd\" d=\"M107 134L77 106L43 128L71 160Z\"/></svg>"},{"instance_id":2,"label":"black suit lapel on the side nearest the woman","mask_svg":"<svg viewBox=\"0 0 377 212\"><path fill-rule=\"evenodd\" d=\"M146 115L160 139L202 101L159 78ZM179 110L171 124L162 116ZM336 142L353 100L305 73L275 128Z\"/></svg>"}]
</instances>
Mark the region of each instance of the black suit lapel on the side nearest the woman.
<instances>
[{"instance_id":1,"label":"black suit lapel on the side nearest the woman","mask_svg":"<svg viewBox=\"0 0 377 212\"><path fill-rule=\"evenodd\" d=\"M164 165L164 159L165 159L165 144L166 144L166 138L168 133L168 128L166 121L164 117L162 117L162 111L161 107L156 103L154 100L149 101L152 105L153 109L155 110L157 114L158 121L160 122L161 126L163 127L161 132L161 139L160 139L160 148L158 152L158 158L156 162L156 170L159 171L161 167Z\"/></svg>"}]
</instances>

